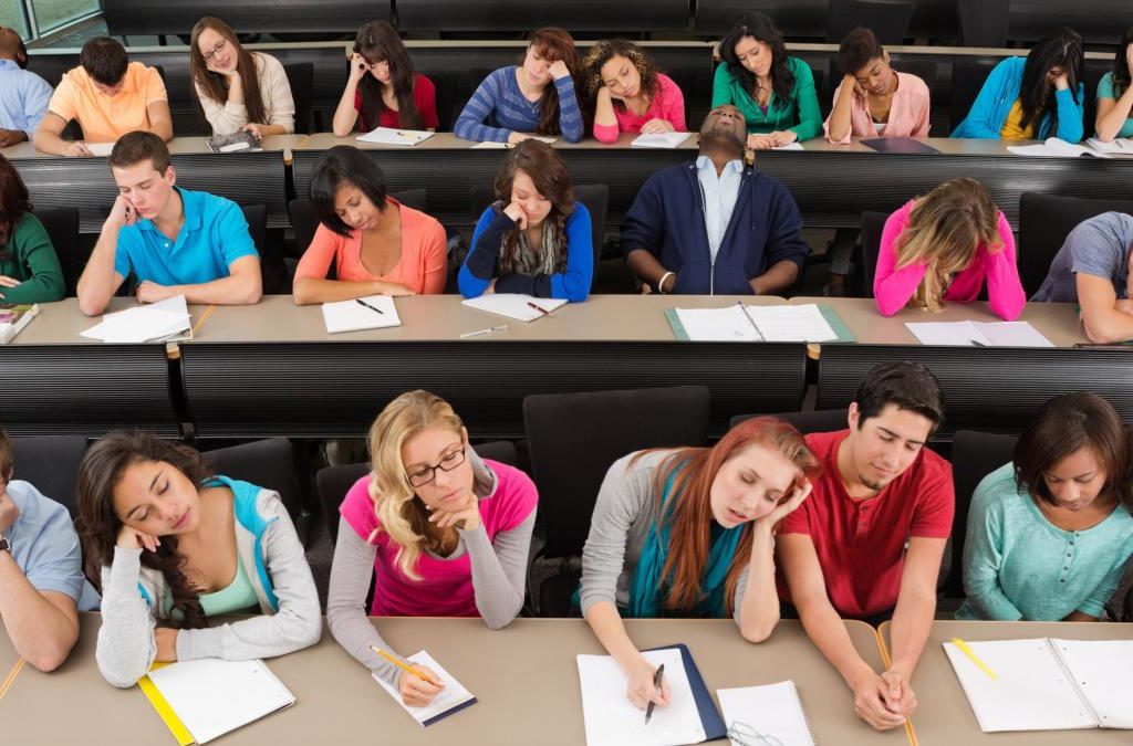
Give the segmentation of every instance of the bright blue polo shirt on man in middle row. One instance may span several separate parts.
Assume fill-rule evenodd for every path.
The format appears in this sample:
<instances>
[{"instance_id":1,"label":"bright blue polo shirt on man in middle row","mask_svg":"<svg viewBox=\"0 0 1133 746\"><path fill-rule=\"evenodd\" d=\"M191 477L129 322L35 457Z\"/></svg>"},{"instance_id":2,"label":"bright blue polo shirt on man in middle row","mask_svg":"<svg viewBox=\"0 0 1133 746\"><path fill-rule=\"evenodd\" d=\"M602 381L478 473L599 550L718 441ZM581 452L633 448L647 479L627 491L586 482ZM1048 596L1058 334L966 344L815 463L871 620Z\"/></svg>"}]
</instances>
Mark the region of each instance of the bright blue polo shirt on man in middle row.
<instances>
[{"instance_id":1,"label":"bright blue polo shirt on man in middle row","mask_svg":"<svg viewBox=\"0 0 1133 746\"><path fill-rule=\"evenodd\" d=\"M114 255L118 274L128 277L133 272L138 282L159 285L198 285L228 277L237 259L258 256L235 201L204 191L177 192L185 211L177 240L169 240L151 220L123 226Z\"/></svg>"}]
</instances>

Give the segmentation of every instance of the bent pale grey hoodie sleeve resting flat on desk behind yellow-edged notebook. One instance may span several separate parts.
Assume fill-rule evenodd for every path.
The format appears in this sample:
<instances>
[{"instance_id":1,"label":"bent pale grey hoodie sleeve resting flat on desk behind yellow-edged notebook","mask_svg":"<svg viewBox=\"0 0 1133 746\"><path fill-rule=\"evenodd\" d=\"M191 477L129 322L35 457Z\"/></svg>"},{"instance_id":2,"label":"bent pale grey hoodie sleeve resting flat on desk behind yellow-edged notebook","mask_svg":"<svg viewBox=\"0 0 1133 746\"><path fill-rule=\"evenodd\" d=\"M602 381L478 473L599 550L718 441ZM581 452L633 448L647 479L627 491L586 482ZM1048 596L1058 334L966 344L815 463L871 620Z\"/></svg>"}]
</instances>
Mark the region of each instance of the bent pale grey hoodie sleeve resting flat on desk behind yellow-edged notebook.
<instances>
[{"instance_id":1,"label":"bent pale grey hoodie sleeve resting flat on desk behind yellow-edged notebook","mask_svg":"<svg viewBox=\"0 0 1133 746\"><path fill-rule=\"evenodd\" d=\"M309 648L322 636L318 591L303 542L279 496L267 505L273 516L264 530L263 546L279 609L275 614L262 614L219 627L181 629L177 635L178 660L273 658ZM246 569L255 572L250 567Z\"/></svg>"}]
</instances>

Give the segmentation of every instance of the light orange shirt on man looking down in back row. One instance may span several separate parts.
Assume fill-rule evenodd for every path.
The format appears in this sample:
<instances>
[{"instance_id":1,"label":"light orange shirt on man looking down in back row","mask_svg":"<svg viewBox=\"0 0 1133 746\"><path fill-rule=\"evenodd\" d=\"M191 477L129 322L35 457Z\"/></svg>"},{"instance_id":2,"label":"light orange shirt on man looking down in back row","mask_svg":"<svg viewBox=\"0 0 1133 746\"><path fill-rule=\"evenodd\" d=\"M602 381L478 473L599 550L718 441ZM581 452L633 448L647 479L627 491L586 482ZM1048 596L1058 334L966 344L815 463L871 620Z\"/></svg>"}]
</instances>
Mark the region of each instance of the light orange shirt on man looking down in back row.
<instances>
[{"instance_id":1,"label":"light orange shirt on man looking down in back row","mask_svg":"<svg viewBox=\"0 0 1133 746\"><path fill-rule=\"evenodd\" d=\"M154 68L130 62L121 91L111 97L95 88L86 70L77 67L59 82L48 111L66 121L78 120L88 143L113 143L126 132L152 129L148 106L157 101L169 101L169 95Z\"/></svg>"}]
</instances>

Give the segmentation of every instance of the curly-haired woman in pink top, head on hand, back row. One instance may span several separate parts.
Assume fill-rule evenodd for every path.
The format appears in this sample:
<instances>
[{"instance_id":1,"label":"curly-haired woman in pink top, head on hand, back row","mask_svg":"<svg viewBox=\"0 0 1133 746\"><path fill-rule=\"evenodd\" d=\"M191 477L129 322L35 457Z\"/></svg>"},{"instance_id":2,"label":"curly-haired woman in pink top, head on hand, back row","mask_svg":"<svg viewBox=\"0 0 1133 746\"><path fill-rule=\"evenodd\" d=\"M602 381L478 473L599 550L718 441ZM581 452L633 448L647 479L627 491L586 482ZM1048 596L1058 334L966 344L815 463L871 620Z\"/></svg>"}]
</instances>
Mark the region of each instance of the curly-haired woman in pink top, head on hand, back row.
<instances>
[{"instance_id":1,"label":"curly-haired woman in pink top, head on hand, back row","mask_svg":"<svg viewBox=\"0 0 1133 746\"><path fill-rule=\"evenodd\" d=\"M594 98L594 137L616 143L620 132L685 132L684 94L633 42L598 42L582 61Z\"/></svg>"}]
</instances>

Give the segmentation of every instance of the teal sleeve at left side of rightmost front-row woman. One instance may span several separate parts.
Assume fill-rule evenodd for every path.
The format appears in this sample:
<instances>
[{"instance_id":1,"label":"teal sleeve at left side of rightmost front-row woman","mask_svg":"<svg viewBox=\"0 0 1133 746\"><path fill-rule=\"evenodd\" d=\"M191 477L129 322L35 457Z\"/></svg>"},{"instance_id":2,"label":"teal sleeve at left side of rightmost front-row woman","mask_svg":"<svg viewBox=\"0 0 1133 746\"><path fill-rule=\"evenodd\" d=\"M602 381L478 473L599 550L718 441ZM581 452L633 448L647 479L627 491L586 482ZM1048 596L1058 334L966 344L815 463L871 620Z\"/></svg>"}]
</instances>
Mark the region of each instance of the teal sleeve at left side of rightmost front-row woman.
<instances>
[{"instance_id":1,"label":"teal sleeve at left side of rightmost front-row woman","mask_svg":"<svg viewBox=\"0 0 1133 746\"><path fill-rule=\"evenodd\" d=\"M999 586L1005 535L1003 495L995 491L995 472L988 474L972 494L964 540L964 595L980 619L1019 621L1023 612L1015 608Z\"/></svg>"}]
</instances>

